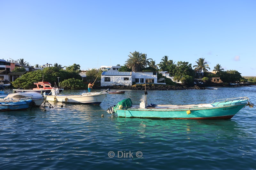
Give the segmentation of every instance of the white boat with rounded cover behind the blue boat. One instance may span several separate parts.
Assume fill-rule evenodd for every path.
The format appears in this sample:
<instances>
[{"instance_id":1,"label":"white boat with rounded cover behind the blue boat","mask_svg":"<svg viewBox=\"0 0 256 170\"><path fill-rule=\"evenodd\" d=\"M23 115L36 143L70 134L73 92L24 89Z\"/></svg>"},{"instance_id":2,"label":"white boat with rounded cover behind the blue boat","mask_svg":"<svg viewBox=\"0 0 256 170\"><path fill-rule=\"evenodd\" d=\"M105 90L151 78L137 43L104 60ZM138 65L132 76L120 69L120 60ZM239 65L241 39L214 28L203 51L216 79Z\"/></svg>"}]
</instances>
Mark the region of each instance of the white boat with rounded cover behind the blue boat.
<instances>
[{"instance_id":1,"label":"white boat with rounded cover behind the blue boat","mask_svg":"<svg viewBox=\"0 0 256 170\"><path fill-rule=\"evenodd\" d=\"M36 106L40 106L44 102L44 96L38 92L17 92L8 94L2 102L18 101L21 99L32 99Z\"/></svg>"}]
</instances>

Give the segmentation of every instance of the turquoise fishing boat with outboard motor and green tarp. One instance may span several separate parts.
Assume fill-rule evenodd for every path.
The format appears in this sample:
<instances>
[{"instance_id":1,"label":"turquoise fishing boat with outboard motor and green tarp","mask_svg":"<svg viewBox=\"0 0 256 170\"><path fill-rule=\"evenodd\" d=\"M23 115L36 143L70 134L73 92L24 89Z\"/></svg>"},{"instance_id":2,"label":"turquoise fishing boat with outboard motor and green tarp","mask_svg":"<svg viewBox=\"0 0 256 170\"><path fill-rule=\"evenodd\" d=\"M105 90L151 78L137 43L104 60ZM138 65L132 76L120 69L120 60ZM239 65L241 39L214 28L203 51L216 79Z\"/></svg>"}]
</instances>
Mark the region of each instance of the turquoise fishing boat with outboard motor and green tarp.
<instances>
[{"instance_id":1,"label":"turquoise fishing boat with outboard motor and green tarp","mask_svg":"<svg viewBox=\"0 0 256 170\"><path fill-rule=\"evenodd\" d=\"M132 105L130 98L122 100L108 110L118 117L167 118L167 119L231 119L245 106L253 107L247 97L214 100L209 104L195 105L147 105L147 92L140 105Z\"/></svg>"}]
</instances>

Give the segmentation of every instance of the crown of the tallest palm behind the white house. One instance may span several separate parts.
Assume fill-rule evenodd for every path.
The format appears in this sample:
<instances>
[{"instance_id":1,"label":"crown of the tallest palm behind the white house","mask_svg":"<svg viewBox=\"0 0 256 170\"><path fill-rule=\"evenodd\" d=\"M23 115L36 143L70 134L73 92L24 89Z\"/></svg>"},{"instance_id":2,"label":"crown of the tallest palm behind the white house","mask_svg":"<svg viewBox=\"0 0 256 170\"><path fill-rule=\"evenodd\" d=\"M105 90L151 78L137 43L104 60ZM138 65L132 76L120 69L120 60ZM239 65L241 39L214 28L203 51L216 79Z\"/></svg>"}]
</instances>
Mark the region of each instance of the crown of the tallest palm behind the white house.
<instances>
[{"instance_id":1,"label":"crown of the tallest palm behind the white house","mask_svg":"<svg viewBox=\"0 0 256 170\"><path fill-rule=\"evenodd\" d=\"M147 55L142 54L140 52L134 51L133 53L130 52L130 55L128 55L128 59L125 62L125 65L132 69L132 71L141 71L142 68L147 66Z\"/></svg>"}]
</instances>

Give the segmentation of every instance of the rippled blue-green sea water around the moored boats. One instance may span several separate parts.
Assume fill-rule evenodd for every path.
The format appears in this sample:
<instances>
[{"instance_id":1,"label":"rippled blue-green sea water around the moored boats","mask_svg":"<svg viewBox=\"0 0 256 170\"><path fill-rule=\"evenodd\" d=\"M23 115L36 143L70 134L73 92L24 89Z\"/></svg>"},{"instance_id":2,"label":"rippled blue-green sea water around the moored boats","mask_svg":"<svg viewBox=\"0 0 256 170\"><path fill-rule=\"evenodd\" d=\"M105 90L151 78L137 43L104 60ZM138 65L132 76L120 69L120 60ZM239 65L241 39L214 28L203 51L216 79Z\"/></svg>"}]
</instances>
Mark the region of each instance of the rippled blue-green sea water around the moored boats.
<instances>
[{"instance_id":1,"label":"rippled blue-green sea water around the moored boats","mask_svg":"<svg viewBox=\"0 0 256 170\"><path fill-rule=\"evenodd\" d=\"M148 103L247 96L256 104L256 86L212 88L218 89L148 91ZM0 169L256 169L255 107L231 120L118 118L106 112L125 98L139 104L142 94L109 94L100 106L52 102L46 111L0 113Z\"/></svg>"}]
</instances>

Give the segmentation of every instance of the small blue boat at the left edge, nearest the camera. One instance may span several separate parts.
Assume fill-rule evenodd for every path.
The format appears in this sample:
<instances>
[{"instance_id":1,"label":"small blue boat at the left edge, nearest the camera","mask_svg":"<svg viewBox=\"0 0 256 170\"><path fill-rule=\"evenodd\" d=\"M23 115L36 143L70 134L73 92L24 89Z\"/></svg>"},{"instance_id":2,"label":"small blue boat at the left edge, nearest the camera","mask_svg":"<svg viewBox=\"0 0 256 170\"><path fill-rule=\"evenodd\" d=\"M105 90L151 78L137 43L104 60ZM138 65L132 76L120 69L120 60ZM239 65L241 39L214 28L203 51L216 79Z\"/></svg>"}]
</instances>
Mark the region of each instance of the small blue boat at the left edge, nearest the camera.
<instances>
[{"instance_id":1,"label":"small blue boat at the left edge, nearest the camera","mask_svg":"<svg viewBox=\"0 0 256 170\"><path fill-rule=\"evenodd\" d=\"M33 102L32 99L0 102L0 111L27 110L31 102Z\"/></svg>"}]
</instances>

